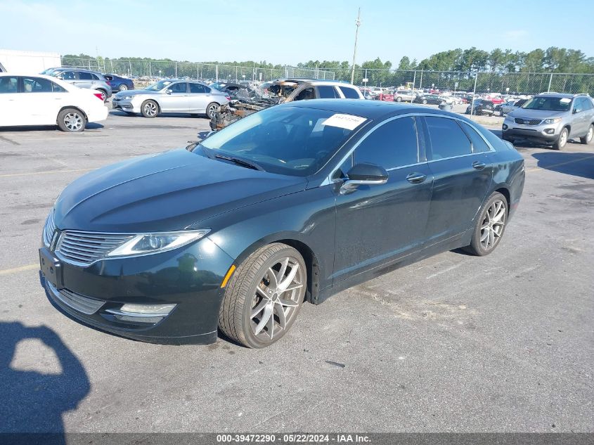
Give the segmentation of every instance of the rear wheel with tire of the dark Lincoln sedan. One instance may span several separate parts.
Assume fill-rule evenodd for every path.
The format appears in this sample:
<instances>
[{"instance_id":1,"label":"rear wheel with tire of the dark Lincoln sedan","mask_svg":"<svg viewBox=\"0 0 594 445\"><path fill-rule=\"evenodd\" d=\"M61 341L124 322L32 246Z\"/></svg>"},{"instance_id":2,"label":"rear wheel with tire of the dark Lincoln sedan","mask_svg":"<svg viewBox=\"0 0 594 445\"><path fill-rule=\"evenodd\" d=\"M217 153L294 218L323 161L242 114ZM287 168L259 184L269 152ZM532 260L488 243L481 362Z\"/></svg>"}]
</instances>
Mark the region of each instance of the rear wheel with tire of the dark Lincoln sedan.
<instances>
[{"instance_id":1,"label":"rear wheel with tire of the dark Lincoln sedan","mask_svg":"<svg viewBox=\"0 0 594 445\"><path fill-rule=\"evenodd\" d=\"M493 193L484 203L474 224L470 245L464 247L464 250L477 257L484 257L493 252L505 232L508 213L508 200L499 192Z\"/></svg>"}]
</instances>

